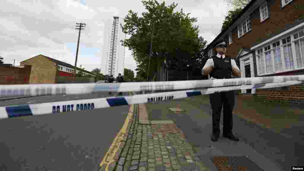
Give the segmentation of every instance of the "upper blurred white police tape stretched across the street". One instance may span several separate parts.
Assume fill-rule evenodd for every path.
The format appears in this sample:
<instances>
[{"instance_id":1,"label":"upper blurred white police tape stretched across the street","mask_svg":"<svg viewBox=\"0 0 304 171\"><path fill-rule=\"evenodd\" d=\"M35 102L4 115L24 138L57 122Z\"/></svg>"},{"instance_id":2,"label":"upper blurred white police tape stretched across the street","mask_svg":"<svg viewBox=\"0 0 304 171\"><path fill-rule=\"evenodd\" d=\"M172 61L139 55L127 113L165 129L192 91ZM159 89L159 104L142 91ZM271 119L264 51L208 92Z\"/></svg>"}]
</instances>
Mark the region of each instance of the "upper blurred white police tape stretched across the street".
<instances>
[{"instance_id":1,"label":"upper blurred white police tape stretched across the street","mask_svg":"<svg viewBox=\"0 0 304 171\"><path fill-rule=\"evenodd\" d=\"M87 94L93 92L139 92L158 90L201 89L210 87L253 85L286 81L304 81L304 75L168 82L0 85L0 97L4 98L12 96Z\"/></svg>"}]
</instances>

